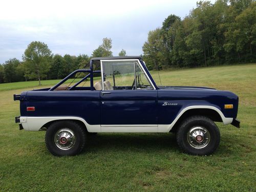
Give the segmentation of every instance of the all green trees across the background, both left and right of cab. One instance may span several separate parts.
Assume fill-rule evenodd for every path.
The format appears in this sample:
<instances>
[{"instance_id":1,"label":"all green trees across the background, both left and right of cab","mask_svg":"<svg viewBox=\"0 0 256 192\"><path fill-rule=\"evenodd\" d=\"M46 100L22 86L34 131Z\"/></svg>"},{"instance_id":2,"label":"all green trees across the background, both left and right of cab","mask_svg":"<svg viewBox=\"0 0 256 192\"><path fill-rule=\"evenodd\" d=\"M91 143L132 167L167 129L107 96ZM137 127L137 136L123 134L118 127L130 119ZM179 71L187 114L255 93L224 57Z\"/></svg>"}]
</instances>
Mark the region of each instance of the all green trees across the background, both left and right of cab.
<instances>
[{"instance_id":1,"label":"all green trees across the background, both left and right of cab","mask_svg":"<svg viewBox=\"0 0 256 192\"><path fill-rule=\"evenodd\" d=\"M92 57L112 55L112 39L91 56L53 55L44 42L31 42L22 61L12 58L0 65L0 83L61 79L83 68ZM189 68L256 61L255 0L200 1L181 19L171 14L161 28L148 32L142 47L143 60L149 70L170 67ZM119 56L125 56L121 50Z\"/></svg>"}]
</instances>

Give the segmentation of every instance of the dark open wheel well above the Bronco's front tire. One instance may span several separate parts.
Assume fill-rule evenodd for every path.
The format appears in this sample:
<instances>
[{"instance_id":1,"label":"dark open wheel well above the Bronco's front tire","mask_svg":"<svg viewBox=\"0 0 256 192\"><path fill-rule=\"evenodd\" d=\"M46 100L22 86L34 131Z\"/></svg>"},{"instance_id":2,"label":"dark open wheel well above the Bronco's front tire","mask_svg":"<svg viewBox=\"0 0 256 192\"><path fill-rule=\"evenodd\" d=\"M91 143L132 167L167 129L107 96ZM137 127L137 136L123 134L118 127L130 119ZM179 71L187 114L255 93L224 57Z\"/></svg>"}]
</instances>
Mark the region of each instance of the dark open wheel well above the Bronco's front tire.
<instances>
[{"instance_id":1,"label":"dark open wheel well above the Bronco's front tire","mask_svg":"<svg viewBox=\"0 0 256 192\"><path fill-rule=\"evenodd\" d=\"M173 128L170 130L170 132L176 132L178 127L180 126L180 123L191 116L194 115L201 115L201 116L205 116L208 117L209 119L211 119L212 121L216 121L216 122L222 122L222 118L220 116L220 114L212 109L191 109L191 110L187 110L185 111L181 117L178 119L178 121L175 123L175 125L173 126Z\"/></svg>"}]
</instances>

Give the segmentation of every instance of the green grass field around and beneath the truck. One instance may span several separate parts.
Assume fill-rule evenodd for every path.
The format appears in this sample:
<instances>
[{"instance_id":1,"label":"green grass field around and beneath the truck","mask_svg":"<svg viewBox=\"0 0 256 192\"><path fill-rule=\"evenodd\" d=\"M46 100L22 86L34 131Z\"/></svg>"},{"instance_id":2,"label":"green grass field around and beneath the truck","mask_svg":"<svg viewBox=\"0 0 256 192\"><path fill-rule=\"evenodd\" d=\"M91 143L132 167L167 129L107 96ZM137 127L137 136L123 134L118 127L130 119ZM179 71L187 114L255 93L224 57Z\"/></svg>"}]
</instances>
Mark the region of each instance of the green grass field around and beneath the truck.
<instances>
[{"instance_id":1,"label":"green grass field around and beneath the truck","mask_svg":"<svg viewBox=\"0 0 256 192\"><path fill-rule=\"evenodd\" d=\"M14 123L19 102L12 95L37 82L0 84L0 191L255 191L256 65L161 71L160 76L165 85L236 93L241 129L218 123L221 143L210 156L181 153L173 134L102 133L89 138L79 156L54 157L45 132L18 131ZM42 81L42 87L57 81Z\"/></svg>"}]
</instances>

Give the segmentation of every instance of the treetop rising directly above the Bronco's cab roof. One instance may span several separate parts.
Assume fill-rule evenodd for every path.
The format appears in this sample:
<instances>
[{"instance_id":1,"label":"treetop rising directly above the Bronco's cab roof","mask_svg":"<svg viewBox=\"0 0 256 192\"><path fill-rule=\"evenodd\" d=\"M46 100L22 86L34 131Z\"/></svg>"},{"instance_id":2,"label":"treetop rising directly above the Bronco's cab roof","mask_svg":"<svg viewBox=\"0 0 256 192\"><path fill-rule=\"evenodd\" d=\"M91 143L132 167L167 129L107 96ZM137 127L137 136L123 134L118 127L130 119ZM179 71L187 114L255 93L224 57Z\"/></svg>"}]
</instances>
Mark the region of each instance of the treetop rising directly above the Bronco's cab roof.
<instances>
[{"instance_id":1,"label":"treetop rising directly above the Bronco's cab roof","mask_svg":"<svg viewBox=\"0 0 256 192\"><path fill-rule=\"evenodd\" d=\"M111 57L112 55L112 39L111 38L103 38L102 45L100 45L97 49L93 51L93 57Z\"/></svg>"}]
</instances>

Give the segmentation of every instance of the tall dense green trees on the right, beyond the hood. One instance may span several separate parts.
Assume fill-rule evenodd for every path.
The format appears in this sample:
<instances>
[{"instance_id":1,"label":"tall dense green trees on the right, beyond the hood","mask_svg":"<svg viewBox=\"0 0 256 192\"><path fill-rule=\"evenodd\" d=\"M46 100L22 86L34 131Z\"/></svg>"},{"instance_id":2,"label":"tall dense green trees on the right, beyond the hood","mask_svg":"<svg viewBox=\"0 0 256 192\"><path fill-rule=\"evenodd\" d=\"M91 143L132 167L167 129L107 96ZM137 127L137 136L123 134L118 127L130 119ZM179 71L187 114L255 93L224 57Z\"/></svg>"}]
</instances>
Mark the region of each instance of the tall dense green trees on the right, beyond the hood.
<instances>
[{"instance_id":1,"label":"tall dense green trees on the right, beyond the hood","mask_svg":"<svg viewBox=\"0 0 256 192\"><path fill-rule=\"evenodd\" d=\"M149 69L255 62L256 2L200 1L184 19L169 15L142 49Z\"/></svg>"}]
</instances>

